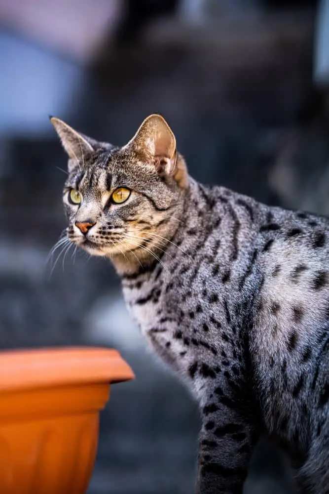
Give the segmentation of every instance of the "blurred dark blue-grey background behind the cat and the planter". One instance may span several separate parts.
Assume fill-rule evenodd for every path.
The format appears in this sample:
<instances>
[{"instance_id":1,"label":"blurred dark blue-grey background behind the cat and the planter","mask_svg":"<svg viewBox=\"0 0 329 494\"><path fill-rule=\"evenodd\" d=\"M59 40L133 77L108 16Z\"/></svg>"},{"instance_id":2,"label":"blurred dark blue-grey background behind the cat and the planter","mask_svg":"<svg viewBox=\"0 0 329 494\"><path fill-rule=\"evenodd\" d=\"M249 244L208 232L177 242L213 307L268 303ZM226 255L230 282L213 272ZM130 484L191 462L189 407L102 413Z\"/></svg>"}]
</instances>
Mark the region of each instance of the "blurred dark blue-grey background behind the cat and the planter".
<instances>
[{"instance_id":1,"label":"blurred dark blue-grey background behind the cat and the planter","mask_svg":"<svg viewBox=\"0 0 329 494\"><path fill-rule=\"evenodd\" d=\"M88 494L191 494L196 404L146 350L104 260L50 248L66 156L48 115L113 144L160 112L190 174L329 214L329 1L0 0L0 347L118 348ZM245 493L293 493L261 443Z\"/></svg>"}]
</instances>

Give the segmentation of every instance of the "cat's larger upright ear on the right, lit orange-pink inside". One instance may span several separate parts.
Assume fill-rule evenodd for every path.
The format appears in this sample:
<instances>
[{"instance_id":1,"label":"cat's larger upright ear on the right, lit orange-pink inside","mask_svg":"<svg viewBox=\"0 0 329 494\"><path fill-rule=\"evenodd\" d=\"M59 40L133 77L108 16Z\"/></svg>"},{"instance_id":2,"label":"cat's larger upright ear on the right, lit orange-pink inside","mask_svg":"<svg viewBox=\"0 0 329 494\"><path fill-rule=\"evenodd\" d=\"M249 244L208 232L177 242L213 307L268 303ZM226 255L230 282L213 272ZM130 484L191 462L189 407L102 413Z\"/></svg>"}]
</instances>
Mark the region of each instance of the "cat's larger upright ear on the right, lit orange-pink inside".
<instances>
[{"instance_id":1,"label":"cat's larger upright ear on the right, lit orange-pink inside","mask_svg":"<svg viewBox=\"0 0 329 494\"><path fill-rule=\"evenodd\" d=\"M183 186L185 180L181 178L185 174L182 168L186 171L186 167L183 158L177 153L175 135L161 115L147 117L127 146L132 146L160 174L179 178Z\"/></svg>"}]
</instances>

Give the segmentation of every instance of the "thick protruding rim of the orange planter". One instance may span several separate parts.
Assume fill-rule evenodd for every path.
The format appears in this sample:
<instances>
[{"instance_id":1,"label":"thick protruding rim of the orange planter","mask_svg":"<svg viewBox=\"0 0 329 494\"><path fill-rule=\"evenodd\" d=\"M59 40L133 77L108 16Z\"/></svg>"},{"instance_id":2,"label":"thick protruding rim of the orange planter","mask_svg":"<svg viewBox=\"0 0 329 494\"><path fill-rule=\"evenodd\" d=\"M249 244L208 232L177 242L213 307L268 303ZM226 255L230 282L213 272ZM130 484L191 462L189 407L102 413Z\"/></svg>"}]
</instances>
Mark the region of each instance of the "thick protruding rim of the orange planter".
<instances>
[{"instance_id":1,"label":"thick protruding rim of the orange planter","mask_svg":"<svg viewBox=\"0 0 329 494\"><path fill-rule=\"evenodd\" d=\"M134 379L117 350L95 347L0 352L0 391Z\"/></svg>"}]
</instances>

